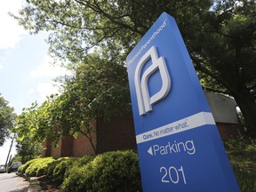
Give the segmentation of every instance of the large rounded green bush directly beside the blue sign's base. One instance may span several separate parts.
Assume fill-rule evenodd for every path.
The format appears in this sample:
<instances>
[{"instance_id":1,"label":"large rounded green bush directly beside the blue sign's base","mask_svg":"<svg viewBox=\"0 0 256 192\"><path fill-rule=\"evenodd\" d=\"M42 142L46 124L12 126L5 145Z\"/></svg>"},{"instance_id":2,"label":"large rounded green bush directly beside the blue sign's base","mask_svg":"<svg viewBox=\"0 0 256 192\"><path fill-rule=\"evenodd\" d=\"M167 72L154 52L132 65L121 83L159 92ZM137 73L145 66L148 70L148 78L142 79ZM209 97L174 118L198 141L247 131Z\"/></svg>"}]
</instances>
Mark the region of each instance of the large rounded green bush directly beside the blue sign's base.
<instances>
[{"instance_id":1,"label":"large rounded green bush directly beside the blue sign's base","mask_svg":"<svg viewBox=\"0 0 256 192\"><path fill-rule=\"evenodd\" d=\"M89 164L74 166L61 188L64 191L141 191L138 156L131 150L96 156Z\"/></svg>"}]
</instances>

